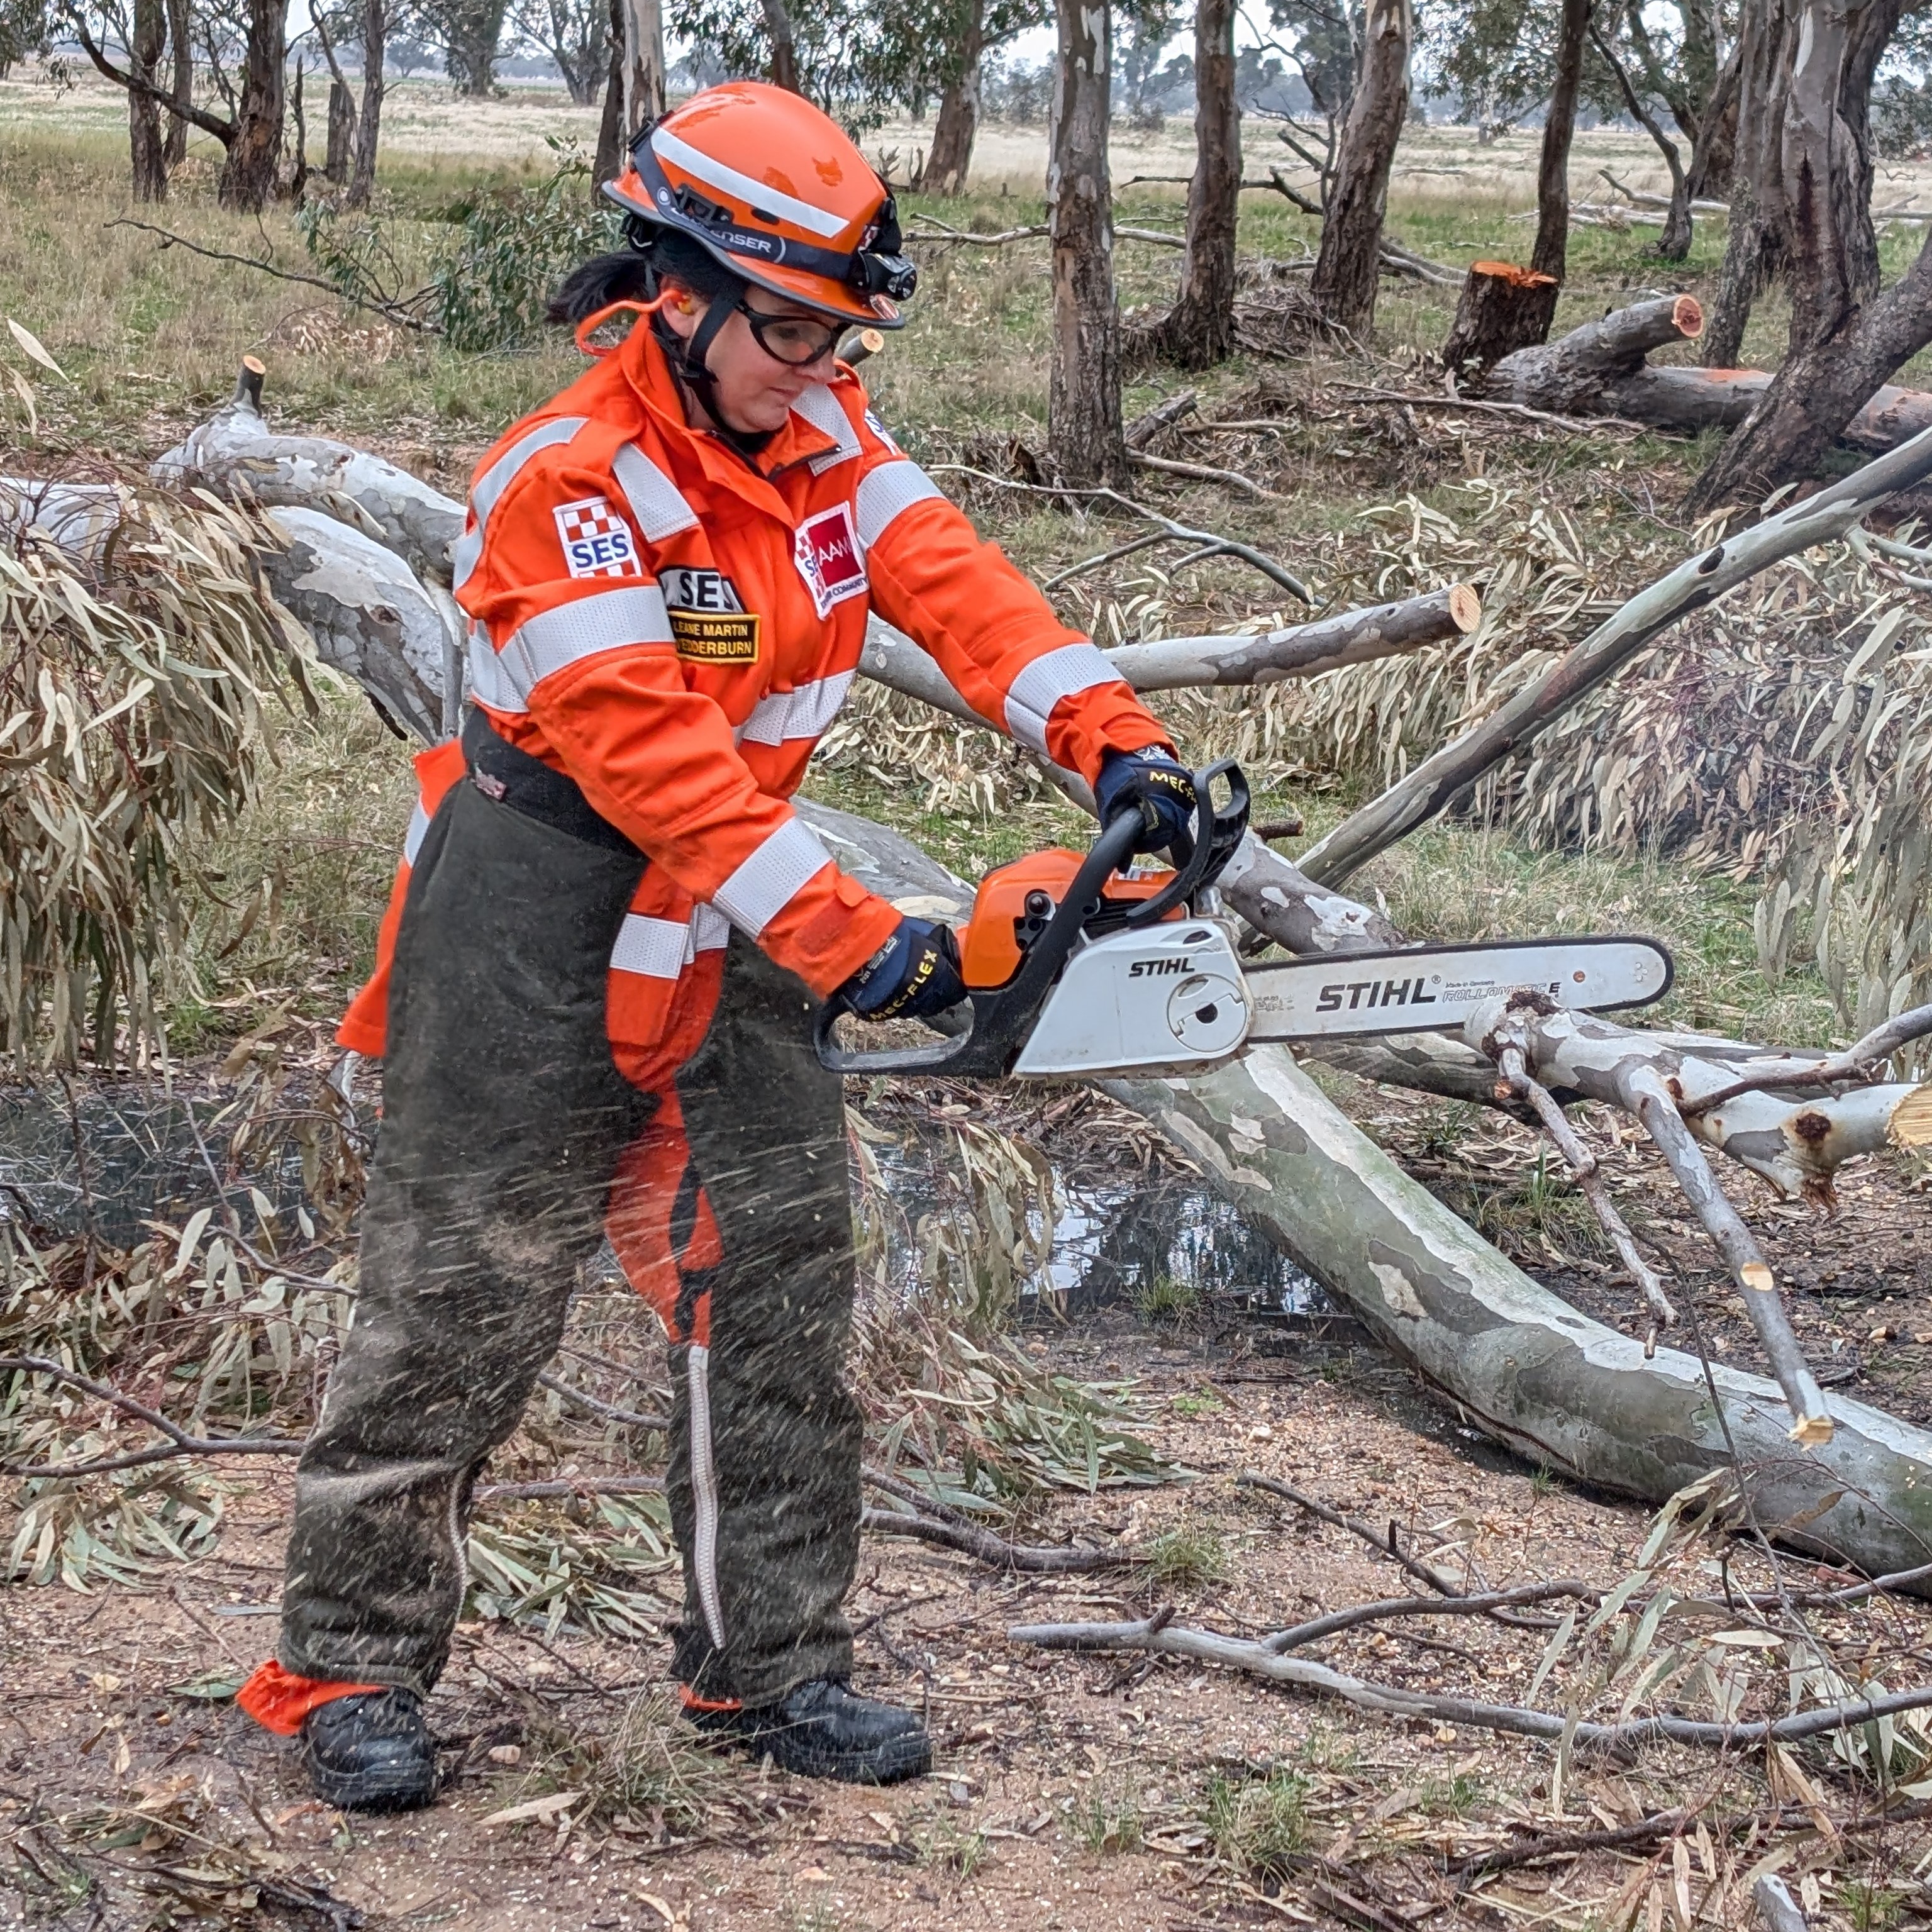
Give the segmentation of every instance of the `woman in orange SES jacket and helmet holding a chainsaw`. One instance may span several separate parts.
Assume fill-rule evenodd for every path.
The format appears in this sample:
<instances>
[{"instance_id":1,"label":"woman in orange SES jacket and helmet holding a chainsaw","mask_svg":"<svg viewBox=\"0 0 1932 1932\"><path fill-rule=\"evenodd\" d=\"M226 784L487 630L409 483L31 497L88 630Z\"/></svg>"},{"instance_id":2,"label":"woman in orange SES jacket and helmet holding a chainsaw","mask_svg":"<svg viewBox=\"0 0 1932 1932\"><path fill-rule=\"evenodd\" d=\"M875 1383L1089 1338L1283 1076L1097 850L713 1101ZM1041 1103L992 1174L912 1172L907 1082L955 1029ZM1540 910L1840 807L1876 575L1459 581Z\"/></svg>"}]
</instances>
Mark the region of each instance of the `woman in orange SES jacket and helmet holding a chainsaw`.
<instances>
[{"instance_id":1,"label":"woman in orange SES jacket and helmet holding a chainsaw","mask_svg":"<svg viewBox=\"0 0 1932 1932\"><path fill-rule=\"evenodd\" d=\"M296 1480L282 1640L243 1708L334 1804L435 1795L423 1718L469 1492L609 1225L670 1331L670 1509L694 1718L788 1770L889 1781L929 1745L848 1689L860 1414L840 1084L811 1049L962 997L788 804L866 612L1146 848L1186 827L1167 732L900 454L835 344L898 327L883 184L796 95L709 89L609 193L620 255L558 296L624 344L483 460L454 587L460 744L423 802L346 1045L384 1057L355 1323Z\"/></svg>"}]
</instances>

